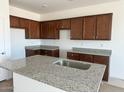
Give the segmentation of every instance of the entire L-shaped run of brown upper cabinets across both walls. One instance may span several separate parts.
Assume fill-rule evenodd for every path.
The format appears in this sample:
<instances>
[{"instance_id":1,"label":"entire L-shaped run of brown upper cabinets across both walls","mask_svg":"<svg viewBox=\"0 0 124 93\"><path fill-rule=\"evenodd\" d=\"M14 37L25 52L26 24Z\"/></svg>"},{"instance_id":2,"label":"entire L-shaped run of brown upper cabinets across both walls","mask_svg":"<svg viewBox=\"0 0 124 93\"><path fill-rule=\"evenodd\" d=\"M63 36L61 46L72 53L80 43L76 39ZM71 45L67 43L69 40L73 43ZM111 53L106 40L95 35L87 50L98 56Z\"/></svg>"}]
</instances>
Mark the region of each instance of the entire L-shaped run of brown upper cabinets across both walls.
<instances>
[{"instance_id":1,"label":"entire L-shaped run of brown upper cabinets across both walls","mask_svg":"<svg viewBox=\"0 0 124 93\"><path fill-rule=\"evenodd\" d=\"M71 40L111 40L112 13L45 22L10 16L10 26L24 28L27 39L59 39L69 29Z\"/></svg>"}]
</instances>

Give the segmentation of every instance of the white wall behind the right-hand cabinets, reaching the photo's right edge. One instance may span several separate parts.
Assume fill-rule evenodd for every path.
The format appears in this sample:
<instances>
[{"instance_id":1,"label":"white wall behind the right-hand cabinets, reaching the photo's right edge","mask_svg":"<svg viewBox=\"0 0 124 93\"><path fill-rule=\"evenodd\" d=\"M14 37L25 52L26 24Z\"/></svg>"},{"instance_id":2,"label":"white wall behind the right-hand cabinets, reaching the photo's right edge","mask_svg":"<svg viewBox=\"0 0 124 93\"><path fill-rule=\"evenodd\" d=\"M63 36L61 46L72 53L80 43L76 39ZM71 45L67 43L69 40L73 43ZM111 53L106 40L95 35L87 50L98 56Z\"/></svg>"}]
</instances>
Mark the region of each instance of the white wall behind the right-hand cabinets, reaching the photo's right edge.
<instances>
[{"instance_id":1,"label":"white wall behind the right-hand cabinets, reaching the photo's right edge","mask_svg":"<svg viewBox=\"0 0 124 93\"><path fill-rule=\"evenodd\" d=\"M48 45L62 45L63 50L70 49L71 47L88 47L88 48L100 48L111 49L112 56L110 61L110 76L120 79L124 79L124 1L118 1L113 3L100 4L95 6L88 6L82 8L75 8L72 10L48 13L42 15L41 20L53 20L61 18L70 18L76 16L113 13L113 26L112 26L112 40L111 41L72 41L72 40L42 40L44 44ZM67 33L63 35L66 38ZM61 43L60 43L61 42ZM62 57L64 57L61 54Z\"/></svg>"}]
</instances>

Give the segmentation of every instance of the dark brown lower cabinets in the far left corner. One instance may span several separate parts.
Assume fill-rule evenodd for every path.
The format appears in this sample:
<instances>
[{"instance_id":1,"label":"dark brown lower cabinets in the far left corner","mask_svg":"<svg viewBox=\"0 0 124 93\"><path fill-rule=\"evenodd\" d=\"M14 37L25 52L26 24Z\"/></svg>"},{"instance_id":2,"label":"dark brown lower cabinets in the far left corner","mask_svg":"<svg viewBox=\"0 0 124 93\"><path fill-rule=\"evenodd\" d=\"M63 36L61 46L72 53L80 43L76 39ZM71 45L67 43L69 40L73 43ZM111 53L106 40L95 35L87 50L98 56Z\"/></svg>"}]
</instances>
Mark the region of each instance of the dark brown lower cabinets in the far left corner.
<instances>
[{"instance_id":1,"label":"dark brown lower cabinets in the far left corner","mask_svg":"<svg viewBox=\"0 0 124 93\"><path fill-rule=\"evenodd\" d=\"M26 57L34 55L46 55L52 57L59 57L59 50L30 50L26 49Z\"/></svg>"}]
</instances>

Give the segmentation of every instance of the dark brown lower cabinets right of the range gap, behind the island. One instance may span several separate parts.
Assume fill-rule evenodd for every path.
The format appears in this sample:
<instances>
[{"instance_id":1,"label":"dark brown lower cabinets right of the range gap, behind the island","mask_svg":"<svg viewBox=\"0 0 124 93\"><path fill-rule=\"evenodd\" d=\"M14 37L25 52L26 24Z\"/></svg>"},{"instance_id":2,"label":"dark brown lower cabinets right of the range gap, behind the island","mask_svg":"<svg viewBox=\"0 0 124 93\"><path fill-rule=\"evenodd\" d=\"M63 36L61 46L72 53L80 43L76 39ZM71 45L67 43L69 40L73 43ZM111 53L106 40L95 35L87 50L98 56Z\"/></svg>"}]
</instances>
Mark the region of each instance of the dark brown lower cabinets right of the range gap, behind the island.
<instances>
[{"instance_id":1,"label":"dark brown lower cabinets right of the range gap, behind the island","mask_svg":"<svg viewBox=\"0 0 124 93\"><path fill-rule=\"evenodd\" d=\"M100 55L90 55L90 54L80 54L67 52L67 58L78 61L86 61L91 63L98 63L106 65L106 70L103 76L104 81L108 81L109 78L109 56L100 56Z\"/></svg>"}]
</instances>

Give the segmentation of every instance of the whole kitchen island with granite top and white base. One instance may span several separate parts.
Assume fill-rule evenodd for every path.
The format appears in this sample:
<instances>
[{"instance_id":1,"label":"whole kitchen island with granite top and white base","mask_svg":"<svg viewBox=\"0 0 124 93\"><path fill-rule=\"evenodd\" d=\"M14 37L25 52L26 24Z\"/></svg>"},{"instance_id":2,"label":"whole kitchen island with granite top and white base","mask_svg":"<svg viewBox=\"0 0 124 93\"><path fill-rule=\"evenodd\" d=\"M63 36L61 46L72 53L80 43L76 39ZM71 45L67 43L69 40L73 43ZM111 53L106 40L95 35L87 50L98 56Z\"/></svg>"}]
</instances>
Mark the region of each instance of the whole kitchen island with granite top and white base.
<instances>
[{"instance_id":1,"label":"whole kitchen island with granite top and white base","mask_svg":"<svg viewBox=\"0 0 124 93\"><path fill-rule=\"evenodd\" d=\"M88 69L77 69L55 64L59 60L89 64ZM0 67L13 72L15 92L97 92L105 66L83 61L36 55Z\"/></svg>"}]
</instances>

